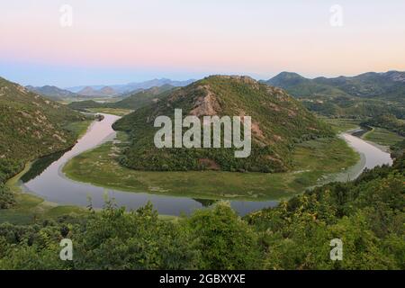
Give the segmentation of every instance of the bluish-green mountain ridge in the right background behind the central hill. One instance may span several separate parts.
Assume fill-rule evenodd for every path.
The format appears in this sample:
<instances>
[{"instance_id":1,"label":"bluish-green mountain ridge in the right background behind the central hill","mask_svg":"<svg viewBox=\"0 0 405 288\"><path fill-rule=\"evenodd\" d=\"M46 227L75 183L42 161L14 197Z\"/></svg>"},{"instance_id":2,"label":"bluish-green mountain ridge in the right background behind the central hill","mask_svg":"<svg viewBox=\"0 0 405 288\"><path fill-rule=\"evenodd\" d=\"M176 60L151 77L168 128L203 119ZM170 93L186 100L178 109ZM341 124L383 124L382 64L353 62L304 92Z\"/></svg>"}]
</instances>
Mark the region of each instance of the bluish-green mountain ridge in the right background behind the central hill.
<instances>
[{"instance_id":1,"label":"bluish-green mountain ridge in the right background behind the central hill","mask_svg":"<svg viewBox=\"0 0 405 288\"><path fill-rule=\"evenodd\" d=\"M405 117L405 72L314 79L282 72L262 82L284 88L311 111L327 116L365 118L388 112Z\"/></svg>"}]
</instances>

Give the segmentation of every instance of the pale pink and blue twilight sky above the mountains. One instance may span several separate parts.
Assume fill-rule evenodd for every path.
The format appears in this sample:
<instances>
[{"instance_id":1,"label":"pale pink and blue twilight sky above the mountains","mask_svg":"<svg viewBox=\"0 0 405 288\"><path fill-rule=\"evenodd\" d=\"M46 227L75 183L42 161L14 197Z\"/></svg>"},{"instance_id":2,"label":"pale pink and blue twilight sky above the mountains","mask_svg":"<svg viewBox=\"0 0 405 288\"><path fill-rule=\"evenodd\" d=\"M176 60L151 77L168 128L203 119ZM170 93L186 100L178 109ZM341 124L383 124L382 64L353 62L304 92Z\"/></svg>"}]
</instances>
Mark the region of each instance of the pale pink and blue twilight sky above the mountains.
<instances>
[{"instance_id":1,"label":"pale pink and blue twilight sky above the mountains","mask_svg":"<svg viewBox=\"0 0 405 288\"><path fill-rule=\"evenodd\" d=\"M405 70L403 0L19 0L0 10L0 76L112 85Z\"/></svg>"}]
</instances>

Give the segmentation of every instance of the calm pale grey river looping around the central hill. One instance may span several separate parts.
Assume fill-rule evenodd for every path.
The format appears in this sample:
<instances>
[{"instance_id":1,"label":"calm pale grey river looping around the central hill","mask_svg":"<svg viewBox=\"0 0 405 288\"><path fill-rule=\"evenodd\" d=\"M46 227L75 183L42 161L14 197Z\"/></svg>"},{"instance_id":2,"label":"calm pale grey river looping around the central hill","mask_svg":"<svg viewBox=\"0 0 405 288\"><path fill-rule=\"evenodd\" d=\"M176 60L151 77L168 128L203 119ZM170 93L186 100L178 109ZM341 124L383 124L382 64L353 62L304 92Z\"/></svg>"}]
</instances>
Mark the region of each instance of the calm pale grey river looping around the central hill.
<instances>
[{"instance_id":1,"label":"calm pale grey river looping around the central hill","mask_svg":"<svg viewBox=\"0 0 405 288\"><path fill-rule=\"evenodd\" d=\"M125 206L127 209L137 209L150 201L159 213L166 215L189 214L195 209L212 203L210 200L187 197L121 192L67 179L61 173L61 169L69 159L115 137L115 132L111 126L120 117L109 114L103 115L104 120L95 121L85 136L78 140L74 148L66 153L55 154L36 161L31 170L22 177L21 185L24 191L34 193L49 202L58 204L87 206L89 199L91 199L94 208L103 208L106 197L113 198L119 206ZM377 165L392 164L392 159L388 153L375 148L364 140L349 134L342 134L342 137L360 152L362 161L348 171L334 175L333 178L326 177L325 181L344 180L349 175L350 178L355 178L365 167L372 168ZM231 201L230 204L240 215L245 215L250 211L274 207L277 202Z\"/></svg>"}]
</instances>

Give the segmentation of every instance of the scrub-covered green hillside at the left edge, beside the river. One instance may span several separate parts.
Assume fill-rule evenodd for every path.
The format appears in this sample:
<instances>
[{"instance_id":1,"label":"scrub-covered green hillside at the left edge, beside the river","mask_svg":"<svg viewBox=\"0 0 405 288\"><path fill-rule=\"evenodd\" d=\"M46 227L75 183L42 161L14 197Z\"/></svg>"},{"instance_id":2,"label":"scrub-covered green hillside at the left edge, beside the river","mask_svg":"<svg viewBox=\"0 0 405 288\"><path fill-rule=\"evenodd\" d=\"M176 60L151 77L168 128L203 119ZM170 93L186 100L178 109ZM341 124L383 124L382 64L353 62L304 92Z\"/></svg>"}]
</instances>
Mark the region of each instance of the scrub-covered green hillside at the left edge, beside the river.
<instances>
[{"instance_id":1,"label":"scrub-covered green hillside at the left edge, beside the river","mask_svg":"<svg viewBox=\"0 0 405 288\"><path fill-rule=\"evenodd\" d=\"M63 127L85 116L0 77L0 183L26 161L69 148Z\"/></svg>"}]
</instances>

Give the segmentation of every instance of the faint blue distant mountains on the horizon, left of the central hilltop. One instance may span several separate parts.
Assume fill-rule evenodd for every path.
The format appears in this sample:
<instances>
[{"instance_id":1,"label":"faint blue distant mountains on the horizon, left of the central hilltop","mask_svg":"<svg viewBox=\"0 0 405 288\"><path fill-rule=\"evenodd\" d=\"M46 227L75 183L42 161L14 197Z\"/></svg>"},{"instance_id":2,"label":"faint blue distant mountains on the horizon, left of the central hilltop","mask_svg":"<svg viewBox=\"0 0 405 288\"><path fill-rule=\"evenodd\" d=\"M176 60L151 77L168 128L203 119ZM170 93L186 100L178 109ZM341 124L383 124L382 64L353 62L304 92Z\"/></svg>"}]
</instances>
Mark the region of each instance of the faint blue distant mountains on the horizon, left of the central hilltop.
<instances>
[{"instance_id":1,"label":"faint blue distant mountains on the horizon, left of the central hilltop","mask_svg":"<svg viewBox=\"0 0 405 288\"><path fill-rule=\"evenodd\" d=\"M153 80L148 80L144 82L131 82L129 84L124 84L124 85L108 85L114 91L116 91L117 94L128 94L128 93L134 93L134 92L139 92L139 90L145 90L149 89L152 87L159 87L162 85L172 85L175 87L183 87L185 85L189 85L193 83L195 80L194 79L189 79L185 81L175 81L175 80L170 80L167 78L161 78L161 79L153 79ZM78 93L80 90L83 90L84 88L90 87L94 90L100 90L104 87L104 85L88 85L88 86L75 86L75 87L68 87L67 90ZM137 91L138 90L138 91Z\"/></svg>"}]
</instances>

